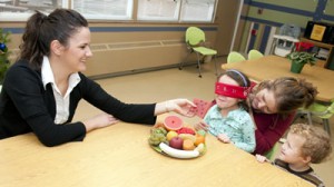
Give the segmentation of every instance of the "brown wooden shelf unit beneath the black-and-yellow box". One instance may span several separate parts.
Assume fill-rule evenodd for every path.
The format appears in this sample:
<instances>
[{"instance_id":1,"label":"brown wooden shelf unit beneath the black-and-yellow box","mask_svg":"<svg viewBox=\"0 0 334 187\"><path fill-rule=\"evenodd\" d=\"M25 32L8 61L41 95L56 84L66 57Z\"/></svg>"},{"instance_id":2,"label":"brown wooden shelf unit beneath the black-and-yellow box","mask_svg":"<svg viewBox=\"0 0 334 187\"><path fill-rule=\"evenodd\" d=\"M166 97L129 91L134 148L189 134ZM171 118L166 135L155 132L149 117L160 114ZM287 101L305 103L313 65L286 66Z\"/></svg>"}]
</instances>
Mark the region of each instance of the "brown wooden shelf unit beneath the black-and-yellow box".
<instances>
[{"instance_id":1,"label":"brown wooden shelf unit beneath the black-and-yellow box","mask_svg":"<svg viewBox=\"0 0 334 187\"><path fill-rule=\"evenodd\" d=\"M308 40L306 38L301 38L301 41L310 42L310 43L313 43L315 47L327 49L328 50L328 56L327 56L326 60L318 60L317 66L334 70L334 58L333 58L333 56L334 56L333 55L334 53L334 51L333 51L334 50L333 49L334 45L328 45L328 43L323 43L323 42L320 42L320 41Z\"/></svg>"}]
</instances>

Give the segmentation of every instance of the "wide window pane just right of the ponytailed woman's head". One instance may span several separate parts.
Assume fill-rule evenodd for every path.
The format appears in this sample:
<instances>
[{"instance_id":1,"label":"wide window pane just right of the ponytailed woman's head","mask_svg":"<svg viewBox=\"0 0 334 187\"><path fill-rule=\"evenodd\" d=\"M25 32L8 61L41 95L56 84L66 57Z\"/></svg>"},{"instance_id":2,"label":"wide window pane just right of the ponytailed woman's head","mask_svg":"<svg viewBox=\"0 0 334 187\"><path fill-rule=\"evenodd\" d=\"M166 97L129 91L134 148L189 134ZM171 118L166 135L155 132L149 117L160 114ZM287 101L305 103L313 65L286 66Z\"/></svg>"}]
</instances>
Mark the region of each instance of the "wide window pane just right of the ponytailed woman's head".
<instances>
[{"instance_id":1,"label":"wide window pane just right of the ponytailed woman's head","mask_svg":"<svg viewBox=\"0 0 334 187\"><path fill-rule=\"evenodd\" d=\"M132 0L72 0L71 8L87 19L130 20Z\"/></svg>"}]
</instances>

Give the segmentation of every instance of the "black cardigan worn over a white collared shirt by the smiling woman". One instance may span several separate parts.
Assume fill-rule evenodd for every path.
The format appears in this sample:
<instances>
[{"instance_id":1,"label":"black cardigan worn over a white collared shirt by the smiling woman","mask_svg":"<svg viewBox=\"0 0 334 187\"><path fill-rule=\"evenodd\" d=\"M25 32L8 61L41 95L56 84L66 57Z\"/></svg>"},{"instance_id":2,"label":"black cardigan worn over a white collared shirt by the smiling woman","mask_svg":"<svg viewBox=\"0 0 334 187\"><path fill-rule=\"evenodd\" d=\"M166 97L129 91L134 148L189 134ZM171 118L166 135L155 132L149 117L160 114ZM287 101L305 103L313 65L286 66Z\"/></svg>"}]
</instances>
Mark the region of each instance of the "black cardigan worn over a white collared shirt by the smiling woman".
<instances>
[{"instance_id":1,"label":"black cardigan worn over a white collared shirt by the smiling woman","mask_svg":"<svg viewBox=\"0 0 334 187\"><path fill-rule=\"evenodd\" d=\"M0 95L0 139L33 131L46 146L84 140L84 124L69 124L81 98L119 120L155 124L155 104L124 104L85 75L79 76L81 80L70 94L69 119L66 125L56 125L56 101L51 83L45 89L41 71L32 70L26 60L12 65L7 71Z\"/></svg>"}]
</instances>

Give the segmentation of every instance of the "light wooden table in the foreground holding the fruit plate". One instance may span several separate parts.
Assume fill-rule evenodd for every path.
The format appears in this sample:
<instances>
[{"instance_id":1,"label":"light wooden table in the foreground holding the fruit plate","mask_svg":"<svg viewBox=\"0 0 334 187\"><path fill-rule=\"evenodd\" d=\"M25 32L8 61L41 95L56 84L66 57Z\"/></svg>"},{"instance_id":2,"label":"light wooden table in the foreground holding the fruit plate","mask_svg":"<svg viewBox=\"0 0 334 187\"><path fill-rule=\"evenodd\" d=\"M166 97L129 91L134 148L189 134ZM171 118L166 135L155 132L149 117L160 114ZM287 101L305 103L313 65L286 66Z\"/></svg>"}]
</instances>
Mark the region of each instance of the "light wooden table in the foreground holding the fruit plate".
<instances>
[{"instance_id":1,"label":"light wooden table in the foreground holding the fruit plate","mask_svg":"<svg viewBox=\"0 0 334 187\"><path fill-rule=\"evenodd\" d=\"M0 140L0 186L312 186L209 135L202 157L181 160L160 155L147 142L149 129L119 122L88 134L84 142L51 148L32 134Z\"/></svg>"}]
</instances>

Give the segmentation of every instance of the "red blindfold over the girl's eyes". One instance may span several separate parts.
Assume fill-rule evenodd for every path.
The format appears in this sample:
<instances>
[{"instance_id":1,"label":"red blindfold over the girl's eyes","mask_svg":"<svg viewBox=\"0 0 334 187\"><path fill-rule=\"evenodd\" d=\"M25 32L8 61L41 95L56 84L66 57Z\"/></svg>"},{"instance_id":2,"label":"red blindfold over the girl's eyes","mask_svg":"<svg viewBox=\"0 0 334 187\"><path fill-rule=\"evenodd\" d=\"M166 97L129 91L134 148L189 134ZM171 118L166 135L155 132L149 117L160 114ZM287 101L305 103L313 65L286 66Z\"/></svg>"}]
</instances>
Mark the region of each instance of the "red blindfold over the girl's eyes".
<instances>
[{"instance_id":1,"label":"red blindfold over the girl's eyes","mask_svg":"<svg viewBox=\"0 0 334 187\"><path fill-rule=\"evenodd\" d=\"M226 96L226 97L246 99L249 90L250 90L250 87L239 87L239 86L234 86L234 85L216 82L215 92L217 95L222 95L222 96Z\"/></svg>"}]
</instances>

